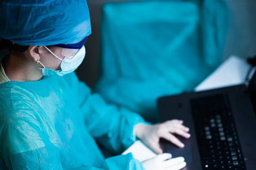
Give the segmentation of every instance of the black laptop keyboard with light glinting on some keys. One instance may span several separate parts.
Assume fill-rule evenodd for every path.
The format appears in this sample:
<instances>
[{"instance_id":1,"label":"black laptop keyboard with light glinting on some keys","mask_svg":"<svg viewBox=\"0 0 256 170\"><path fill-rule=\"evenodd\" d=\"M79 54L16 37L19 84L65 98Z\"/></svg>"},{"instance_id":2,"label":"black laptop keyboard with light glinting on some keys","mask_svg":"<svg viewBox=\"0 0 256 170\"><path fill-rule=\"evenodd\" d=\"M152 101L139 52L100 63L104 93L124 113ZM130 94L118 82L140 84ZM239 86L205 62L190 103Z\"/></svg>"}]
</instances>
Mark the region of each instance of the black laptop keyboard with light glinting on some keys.
<instances>
[{"instance_id":1,"label":"black laptop keyboard with light glinting on some keys","mask_svg":"<svg viewBox=\"0 0 256 170\"><path fill-rule=\"evenodd\" d=\"M191 100L204 170L246 170L227 95Z\"/></svg>"}]
</instances>

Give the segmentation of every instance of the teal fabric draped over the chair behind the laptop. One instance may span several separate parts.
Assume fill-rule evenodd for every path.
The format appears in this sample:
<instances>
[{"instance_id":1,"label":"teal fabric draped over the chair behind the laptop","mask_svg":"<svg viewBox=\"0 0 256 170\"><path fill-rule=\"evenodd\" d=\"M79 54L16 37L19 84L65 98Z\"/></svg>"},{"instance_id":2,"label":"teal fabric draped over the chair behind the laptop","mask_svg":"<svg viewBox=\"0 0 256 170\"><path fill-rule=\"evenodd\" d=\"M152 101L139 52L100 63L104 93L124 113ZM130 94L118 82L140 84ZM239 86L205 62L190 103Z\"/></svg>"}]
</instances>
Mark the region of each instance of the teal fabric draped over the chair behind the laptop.
<instances>
[{"instance_id":1,"label":"teal fabric draped over the chair behind the laptop","mask_svg":"<svg viewBox=\"0 0 256 170\"><path fill-rule=\"evenodd\" d=\"M192 91L222 61L224 0L108 3L102 10L100 79L108 103L157 122L157 98Z\"/></svg>"}]
</instances>

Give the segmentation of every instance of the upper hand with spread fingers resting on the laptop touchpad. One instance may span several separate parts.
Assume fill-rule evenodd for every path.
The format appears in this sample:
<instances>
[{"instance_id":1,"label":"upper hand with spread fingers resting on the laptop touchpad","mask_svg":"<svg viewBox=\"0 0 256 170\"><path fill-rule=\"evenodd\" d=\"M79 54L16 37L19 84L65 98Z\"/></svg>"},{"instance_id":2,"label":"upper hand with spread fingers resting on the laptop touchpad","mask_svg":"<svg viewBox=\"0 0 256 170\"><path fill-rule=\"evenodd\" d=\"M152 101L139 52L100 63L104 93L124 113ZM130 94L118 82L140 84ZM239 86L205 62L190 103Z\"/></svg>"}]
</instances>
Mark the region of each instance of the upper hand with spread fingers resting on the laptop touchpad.
<instances>
[{"instance_id":1,"label":"upper hand with spread fingers resting on the laptop touchpad","mask_svg":"<svg viewBox=\"0 0 256 170\"><path fill-rule=\"evenodd\" d=\"M136 136L155 153L161 154L163 150L160 148L160 138L166 139L178 147L184 147L172 133L176 133L184 138L189 138L189 128L185 127L182 120L170 120L156 125L140 124L136 127Z\"/></svg>"}]
</instances>

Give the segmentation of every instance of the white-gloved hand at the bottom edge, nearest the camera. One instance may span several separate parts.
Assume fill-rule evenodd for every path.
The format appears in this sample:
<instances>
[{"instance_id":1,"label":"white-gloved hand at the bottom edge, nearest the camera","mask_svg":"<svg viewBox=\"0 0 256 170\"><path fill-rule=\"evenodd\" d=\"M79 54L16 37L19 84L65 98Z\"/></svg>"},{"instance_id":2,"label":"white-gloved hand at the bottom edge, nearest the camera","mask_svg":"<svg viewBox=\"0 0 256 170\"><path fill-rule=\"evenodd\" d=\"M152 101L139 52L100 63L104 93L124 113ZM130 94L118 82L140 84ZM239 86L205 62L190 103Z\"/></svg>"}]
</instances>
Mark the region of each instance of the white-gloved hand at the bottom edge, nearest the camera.
<instances>
[{"instance_id":1,"label":"white-gloved hand at the bottom edge, nearest the camera","mask_svg":"<svg viewBox=\"0 0 256 170\"><path fill-rule=\"evenodd\" d=\"M152 159L143 161L145 170L180 170L186 166L183 157L172 158L172 154L163 153Z\"/></svg>"}]
</instances>

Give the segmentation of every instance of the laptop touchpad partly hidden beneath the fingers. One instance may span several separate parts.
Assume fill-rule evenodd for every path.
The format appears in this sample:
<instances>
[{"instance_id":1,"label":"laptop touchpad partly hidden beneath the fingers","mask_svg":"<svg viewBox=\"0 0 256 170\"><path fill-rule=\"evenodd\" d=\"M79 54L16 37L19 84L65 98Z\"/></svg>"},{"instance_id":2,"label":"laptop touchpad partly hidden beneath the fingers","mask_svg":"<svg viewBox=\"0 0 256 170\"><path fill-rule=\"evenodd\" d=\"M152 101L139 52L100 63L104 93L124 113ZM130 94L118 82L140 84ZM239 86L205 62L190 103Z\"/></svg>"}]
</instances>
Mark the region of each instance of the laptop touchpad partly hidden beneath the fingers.
<instances>
[{"instance_id":1,"label":"laptop touchpad partly hidden beneath the fingers","mask_svg":"<svg viewBox=\"0 0 256 170\"><path fill-rule=\"evenodd\" d=\"M160 147L163 149L163 153L171 153L172 158L177 158L177 157L184 157L185 161L187 163L190 163L193 161L192 159L192 150L191 150L191 139L185 139L181 136L175 135L177 139L179 139L183 144L185 144L185 147L180 148L177 147L176 145L172 144L171 142L165 140L165 139L160 139Z\"/></svg>"}]
</instances>

